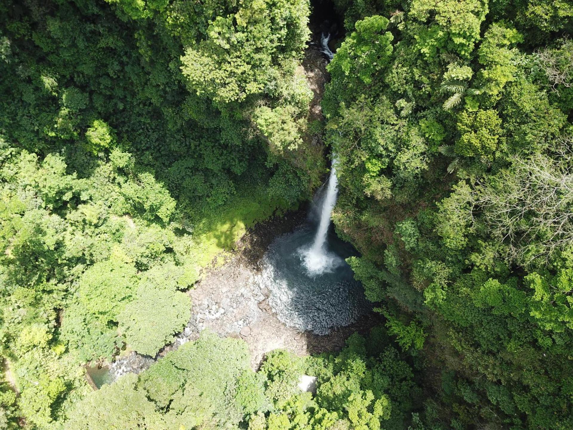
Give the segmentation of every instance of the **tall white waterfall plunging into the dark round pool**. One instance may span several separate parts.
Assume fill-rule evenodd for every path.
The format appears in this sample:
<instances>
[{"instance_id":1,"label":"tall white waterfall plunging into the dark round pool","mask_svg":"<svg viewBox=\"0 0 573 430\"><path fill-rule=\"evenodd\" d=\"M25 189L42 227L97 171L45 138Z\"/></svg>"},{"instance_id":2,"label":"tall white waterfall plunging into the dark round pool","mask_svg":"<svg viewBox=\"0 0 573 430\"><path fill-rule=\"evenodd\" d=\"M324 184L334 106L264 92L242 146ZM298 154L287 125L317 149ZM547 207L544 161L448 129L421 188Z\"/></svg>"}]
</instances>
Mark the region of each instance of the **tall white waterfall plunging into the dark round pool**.
<instances>
[{"instance_id":1,"label":"tall white waterfall plunging into the dark round pool","mask_svg":"<svg viewBox=\"0 0 573 430\"><path fill-rule=\"evenodd\" d=\"M311 276L321 275L325 272L332 272L333 269L342 264L342 259L327 249L328 228L330 226L330 216L332 208L336 204L338 194L338 180L336 178L336 159L332 161L330 176L328 177L328 187L322 208L320 210L319 228L316 230L315 240L309 247L299 249L301 260Z\"/></svg>"}]
</instances>

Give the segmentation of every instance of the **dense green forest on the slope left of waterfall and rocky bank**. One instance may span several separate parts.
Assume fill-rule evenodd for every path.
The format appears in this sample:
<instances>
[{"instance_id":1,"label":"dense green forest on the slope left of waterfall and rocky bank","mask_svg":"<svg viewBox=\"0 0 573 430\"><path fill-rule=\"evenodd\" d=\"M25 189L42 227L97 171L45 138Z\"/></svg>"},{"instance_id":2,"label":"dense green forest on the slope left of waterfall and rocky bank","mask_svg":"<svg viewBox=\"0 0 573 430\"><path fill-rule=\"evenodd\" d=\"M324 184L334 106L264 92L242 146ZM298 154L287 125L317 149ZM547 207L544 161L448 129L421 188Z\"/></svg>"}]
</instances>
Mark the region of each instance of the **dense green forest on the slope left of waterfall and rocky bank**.
<instances>
[{"instance_id":1,"label":"dense green forest on the slope left of waterfall and rocky bank","mask_svg":"<svg viewBox=\"0 0 573 430\"><path fill-rule=\"evenodd\" d=\"M155 356L200 269L319 179L308 2L208 3L0 4L0 428L62 428L82 365Z\"/></svg>"}]
</instances>

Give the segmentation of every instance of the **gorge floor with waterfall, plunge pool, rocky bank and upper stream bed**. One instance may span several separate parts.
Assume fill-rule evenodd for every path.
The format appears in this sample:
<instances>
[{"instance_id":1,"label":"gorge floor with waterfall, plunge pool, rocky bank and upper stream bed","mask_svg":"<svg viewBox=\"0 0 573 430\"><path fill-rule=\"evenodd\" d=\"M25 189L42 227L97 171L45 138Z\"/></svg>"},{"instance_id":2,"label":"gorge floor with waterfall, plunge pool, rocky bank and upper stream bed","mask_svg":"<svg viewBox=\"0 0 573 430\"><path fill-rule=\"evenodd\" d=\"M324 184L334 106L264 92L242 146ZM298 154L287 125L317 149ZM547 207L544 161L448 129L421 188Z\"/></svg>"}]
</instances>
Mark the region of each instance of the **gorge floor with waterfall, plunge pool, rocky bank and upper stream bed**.
<instances>
[{"instance_id":1,"label":"gorge floor with waterfall, plunge pool, rocky bank and upper stream bed","mask_svg":"<svg viewBox=\"0 0 573 430\"><path fill-rule=\"evenodd\" d=\"M334 55L329 32L336 25L327 21L316 28L303 64L315 92L310 110L320 112L328 77L325 66ZM143 372L169 351L197 339L203 330L243 339L254 369L272 350L299 355L339 351L354 331L367 333L379 318L371 314L362 284L344 261L356 250L334 232L331 212L337 192L333 157L327 180L311 202L254 226L221 267L206 269L189 291L191 319L174 343L156 357L131 352L103 367L101 363L88 367L93 384L100 388L126 373Z\"/></svg>"}]
</instances>

